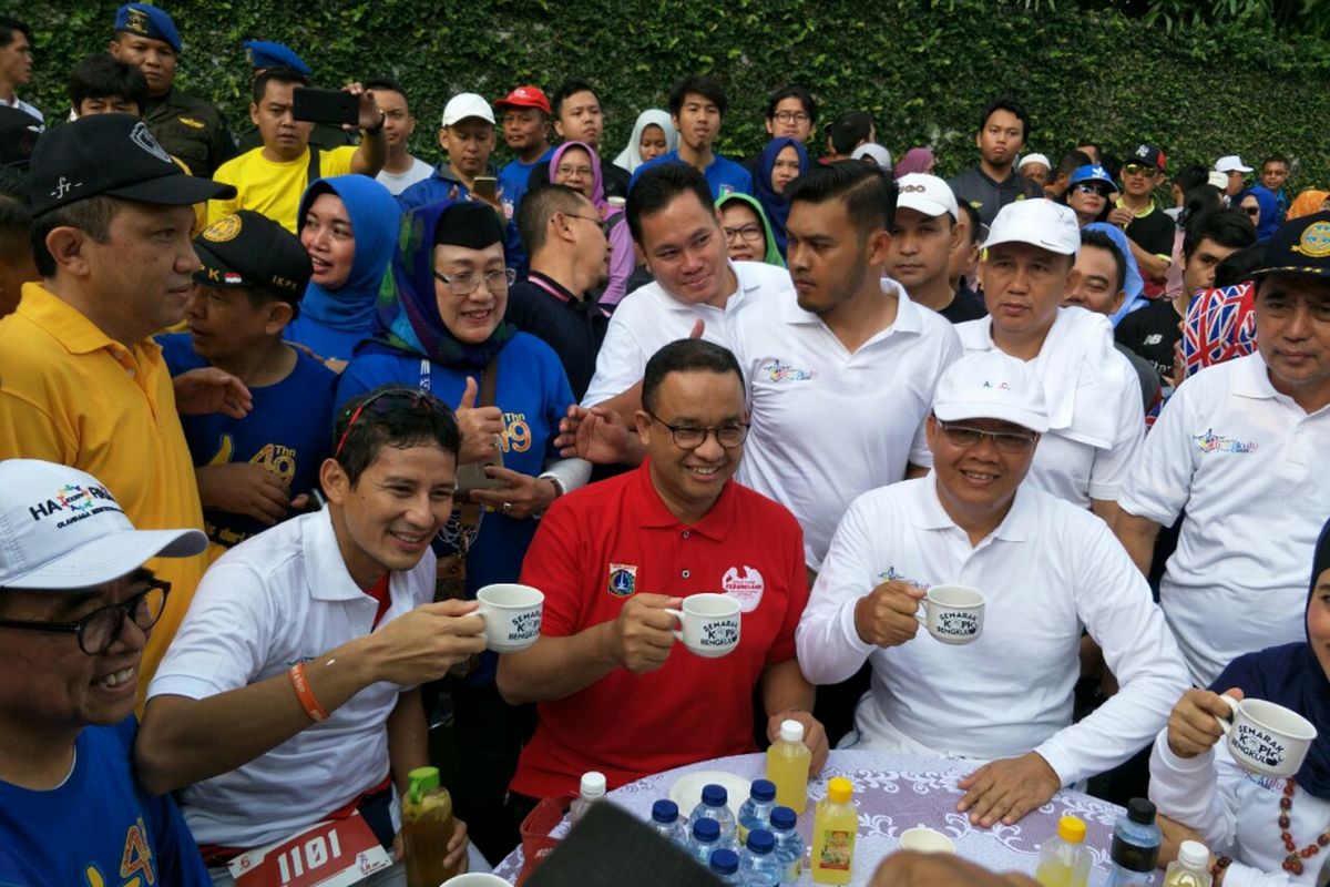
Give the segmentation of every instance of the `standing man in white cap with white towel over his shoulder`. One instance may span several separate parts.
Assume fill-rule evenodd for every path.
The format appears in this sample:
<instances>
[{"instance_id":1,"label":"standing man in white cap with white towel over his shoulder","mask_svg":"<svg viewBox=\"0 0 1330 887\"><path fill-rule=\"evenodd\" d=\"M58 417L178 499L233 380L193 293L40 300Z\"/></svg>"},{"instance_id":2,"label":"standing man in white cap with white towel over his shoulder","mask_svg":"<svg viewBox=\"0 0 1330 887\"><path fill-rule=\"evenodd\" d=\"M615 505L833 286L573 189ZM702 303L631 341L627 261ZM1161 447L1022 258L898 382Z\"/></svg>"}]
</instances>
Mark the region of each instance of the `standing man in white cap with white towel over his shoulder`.
<instances>
[{"instance_id":1,"label":"standing man in white cap with white towel over his shoulder","mask_svg":"<svg viewBox=\"0 0 1330 887\"><path fill-rule=\"evenodd\" d=\"M1112 527L1145 418L1140 382L1113 347L1108 318L1060 307L1079 249L1071 207L1048 199L1003 206L979 270L990 317L956 332L967 354L1001 351L1031 364L1044 390L1048 434L1029 480Z\"/></svg>"}]
</instances>

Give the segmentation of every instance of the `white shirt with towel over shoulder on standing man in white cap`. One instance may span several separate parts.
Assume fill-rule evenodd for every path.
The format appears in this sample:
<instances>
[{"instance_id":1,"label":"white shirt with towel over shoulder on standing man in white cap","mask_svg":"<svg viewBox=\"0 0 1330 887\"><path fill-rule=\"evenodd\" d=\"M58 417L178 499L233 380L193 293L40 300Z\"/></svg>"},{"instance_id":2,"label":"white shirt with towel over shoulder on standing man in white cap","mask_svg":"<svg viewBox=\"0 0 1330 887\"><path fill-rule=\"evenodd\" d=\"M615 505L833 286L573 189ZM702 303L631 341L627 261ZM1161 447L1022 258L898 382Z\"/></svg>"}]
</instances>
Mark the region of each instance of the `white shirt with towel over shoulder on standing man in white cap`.
<instances>
[{"instance_id":1,"label":"white shirt with towel over shoulder on standing man in white cap","mask_svg":"<svg viewBox=\"0 0 1330 887\"><path fill-rule=\"evenodd\" d=\"M956 326L966 354L996 351L992 318ZM1145 436L1141 383L1113 347L1113 327L1081 307L1057 310L1039 356L1029 362L1043 382L1049 428L1035 451L1028 483L1089 508L1117 500Z\"/></svg>"}]
</instances>

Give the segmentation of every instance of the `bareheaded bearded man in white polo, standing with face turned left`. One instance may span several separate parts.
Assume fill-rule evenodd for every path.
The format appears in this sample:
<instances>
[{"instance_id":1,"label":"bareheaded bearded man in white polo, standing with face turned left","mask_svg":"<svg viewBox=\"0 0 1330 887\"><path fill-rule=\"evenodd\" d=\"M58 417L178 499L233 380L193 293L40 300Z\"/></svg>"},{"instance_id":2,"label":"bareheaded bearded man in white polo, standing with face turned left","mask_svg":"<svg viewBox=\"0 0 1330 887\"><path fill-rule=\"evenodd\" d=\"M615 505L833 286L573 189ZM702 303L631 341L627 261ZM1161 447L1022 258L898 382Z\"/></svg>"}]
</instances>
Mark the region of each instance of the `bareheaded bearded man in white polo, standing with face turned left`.
<instances>
[{"instance_id":1,"label":"bareheaded bearded man in white polo, standing with face turned left","mask_svg":"<svg viewBox=\"0 0 1330 887\"><path fill-rule=\"evenodd\" d=\"M908 195L916 206L922 197ZM857 161L817 166L789 199L794 291L751 302L730 323L751 412L739 483L794 512L815 572L855 496L932 464L923 422L960 342L882 277L890 174Z\"/></svg>"}]
</instances>

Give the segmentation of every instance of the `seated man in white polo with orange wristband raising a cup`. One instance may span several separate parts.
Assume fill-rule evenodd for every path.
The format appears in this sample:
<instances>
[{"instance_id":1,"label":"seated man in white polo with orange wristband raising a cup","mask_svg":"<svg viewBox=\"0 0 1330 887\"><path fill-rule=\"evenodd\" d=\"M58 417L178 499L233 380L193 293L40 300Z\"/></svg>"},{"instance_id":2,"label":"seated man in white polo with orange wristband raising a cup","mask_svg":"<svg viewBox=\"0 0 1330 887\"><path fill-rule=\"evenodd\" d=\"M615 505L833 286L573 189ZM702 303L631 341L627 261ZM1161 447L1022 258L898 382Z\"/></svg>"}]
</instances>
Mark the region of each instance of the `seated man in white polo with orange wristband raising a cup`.
<instances>
[{"instance_id":1,"label":"seated man in white polo with orange wristband raising a cup","mask_svg":"<svg viewBox=\"0 0 1330 887\"><path fill-rule=\"evenodd\" d=\"M452 412L382 387L346 404L335 440L319 469L327 507L209 569L148 690L140 778L180 790L214 883L230 883L239 852L355 811L392 847L390 779L400 793L428 763L419 685L484 649L473 601L430 602L430 540L455 489ZM466 844L463 827L450 860ZM398 883L402 867L382 876Z\"/></svg>"}]
</instances>

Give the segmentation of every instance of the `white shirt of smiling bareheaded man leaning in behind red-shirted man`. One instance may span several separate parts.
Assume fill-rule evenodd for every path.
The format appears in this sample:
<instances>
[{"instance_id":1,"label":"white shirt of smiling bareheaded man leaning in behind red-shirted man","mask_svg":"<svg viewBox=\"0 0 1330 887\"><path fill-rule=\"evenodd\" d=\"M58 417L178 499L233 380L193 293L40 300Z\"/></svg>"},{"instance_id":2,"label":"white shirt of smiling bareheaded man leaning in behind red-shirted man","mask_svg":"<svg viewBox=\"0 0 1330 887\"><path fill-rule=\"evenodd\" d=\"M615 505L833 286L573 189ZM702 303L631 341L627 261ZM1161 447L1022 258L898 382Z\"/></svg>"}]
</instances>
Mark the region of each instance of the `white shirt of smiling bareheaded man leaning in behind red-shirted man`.
<instances>
[{"instance_id":1,"label":"white shirt of smiling bareheaded man leaning in behind red-shirted man","mask_svg":"<svg viewBox=\"0 0 1330 887\"><path fill-rule=\"evenodd\" d=\"M596 375L583 406L595 407L641 382L652 355L661 346L686 338L696 320L706 324L702 330L705 340L725 344L729 319L741 305L765 301L790 289L790 273L783 267L765 262L729 265L739 286L724 309L680 302L654 281L625 295L609 318L605 342L596 355Z\"/></svg>"}]
</instances>

